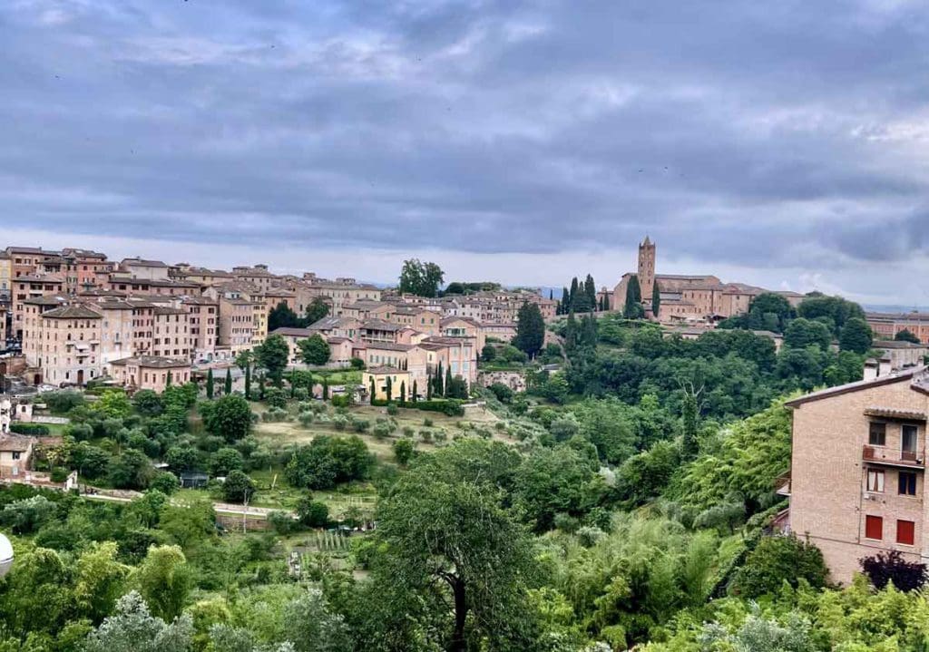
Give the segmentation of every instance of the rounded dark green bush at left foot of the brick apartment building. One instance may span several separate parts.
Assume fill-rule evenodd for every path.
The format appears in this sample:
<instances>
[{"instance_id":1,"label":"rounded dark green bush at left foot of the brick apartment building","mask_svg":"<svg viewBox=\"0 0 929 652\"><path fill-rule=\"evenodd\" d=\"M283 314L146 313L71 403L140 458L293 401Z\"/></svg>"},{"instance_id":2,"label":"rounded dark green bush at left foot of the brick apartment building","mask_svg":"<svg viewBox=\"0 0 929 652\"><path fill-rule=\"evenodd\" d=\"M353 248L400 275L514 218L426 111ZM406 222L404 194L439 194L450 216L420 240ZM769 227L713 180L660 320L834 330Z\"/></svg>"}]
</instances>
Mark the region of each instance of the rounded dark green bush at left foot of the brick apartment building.
<instances>
[{"instance_id":1,"label":"rounded dark green bush at left foot of the brick apartment building","mask_svg":"<svg viewBox=\"0 0 929 652\"><path fill-rule=\"evenodd\" d=\"M793 535L764 537L736 572L731 591L754 598L777 593L785 581L796 588L800 580L821 588L828 574L822 553L812 543Z\"/></svg>"}]
</instances>

